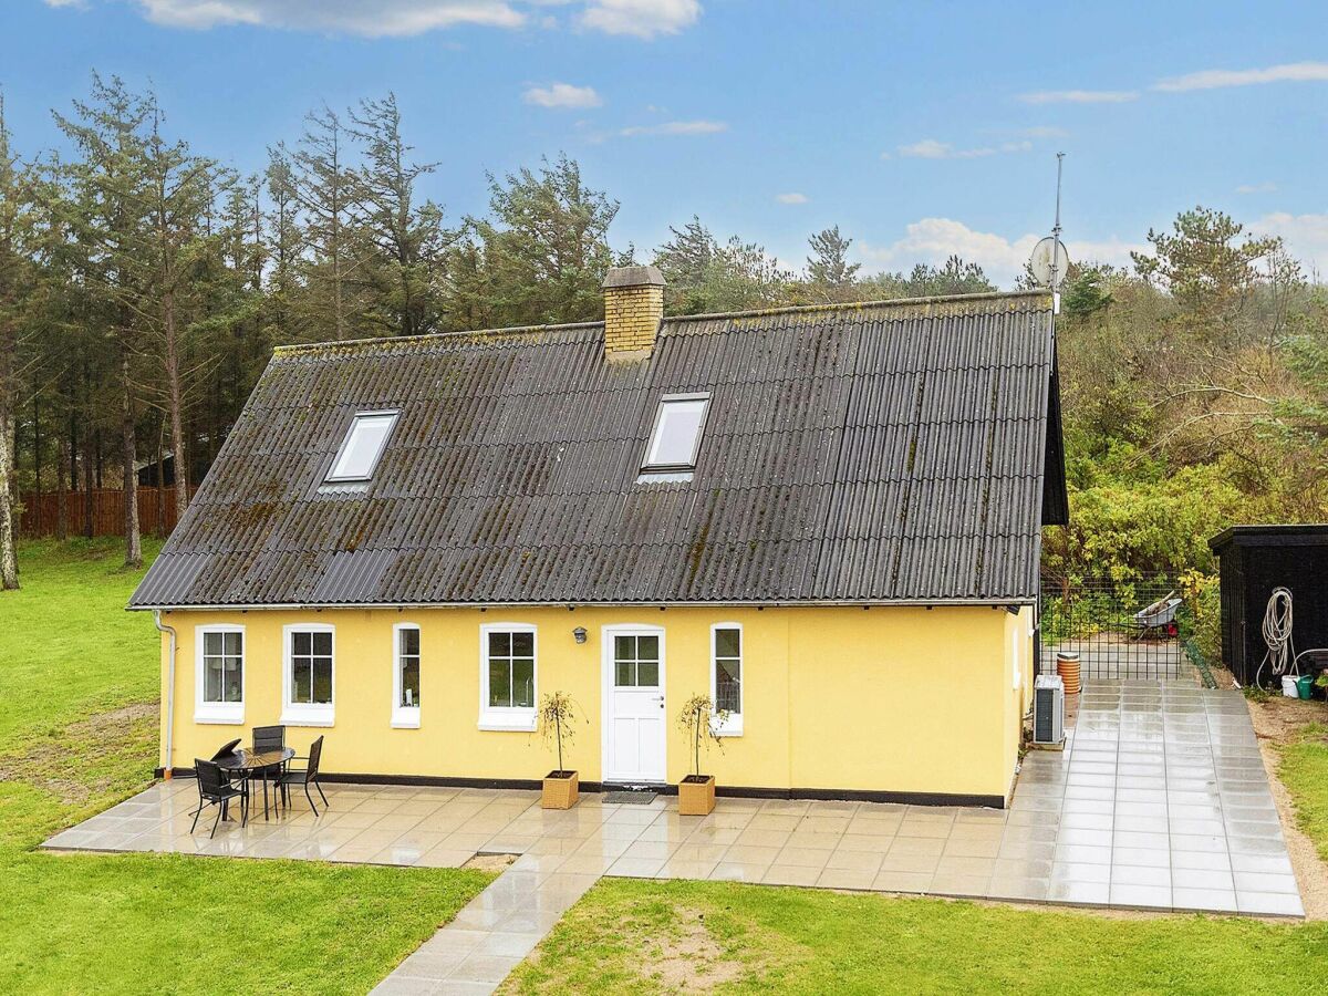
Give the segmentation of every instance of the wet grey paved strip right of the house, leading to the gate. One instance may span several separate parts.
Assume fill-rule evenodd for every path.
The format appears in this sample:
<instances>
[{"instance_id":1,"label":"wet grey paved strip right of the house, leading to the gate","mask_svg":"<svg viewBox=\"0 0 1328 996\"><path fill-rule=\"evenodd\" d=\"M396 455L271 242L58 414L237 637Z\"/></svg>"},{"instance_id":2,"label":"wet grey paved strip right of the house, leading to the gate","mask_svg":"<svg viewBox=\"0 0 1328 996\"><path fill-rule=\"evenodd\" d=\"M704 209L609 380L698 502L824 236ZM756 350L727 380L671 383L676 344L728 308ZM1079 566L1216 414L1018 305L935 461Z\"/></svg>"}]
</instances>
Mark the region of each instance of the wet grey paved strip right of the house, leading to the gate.
<instances>
[{"instance_id":1,"label":"wet grey paved strip right of the house, leading to the gate","mask_svg":"<svg viewBox=\"0 0 1328 996\"><path fill-rule=\"evenodd\" d=\"M1065 754L1025 758L1015 826L1041 845L1024 869L1035 899L1304 915L1239 692L1086 683Z\"/></svg>"}]
</instances>

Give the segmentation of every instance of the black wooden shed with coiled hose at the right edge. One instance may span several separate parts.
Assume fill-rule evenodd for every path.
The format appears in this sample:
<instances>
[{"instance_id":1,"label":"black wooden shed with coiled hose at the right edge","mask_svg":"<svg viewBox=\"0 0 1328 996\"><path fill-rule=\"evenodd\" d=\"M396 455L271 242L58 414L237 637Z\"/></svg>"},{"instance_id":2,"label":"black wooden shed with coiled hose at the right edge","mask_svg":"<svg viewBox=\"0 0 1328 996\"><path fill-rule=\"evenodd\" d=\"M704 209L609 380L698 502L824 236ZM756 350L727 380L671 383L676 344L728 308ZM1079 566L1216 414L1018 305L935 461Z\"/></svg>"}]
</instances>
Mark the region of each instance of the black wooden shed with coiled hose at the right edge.
<instances>
[{"instance_id":1,"label":"black wooden shed with coiled hose at the right edge","mask_svg":"<svg viewBox=\"0 0 1328 996\"><path fill-rule=\"evenodd\" d=\"M1267 652L1263 616L1274 588L1291 591L1296 653L1328 647L1328 525L1232 526L1208 546L1222 564L1222 659L1236 681L1254 683Z\"/></svg>"}]
</instances>

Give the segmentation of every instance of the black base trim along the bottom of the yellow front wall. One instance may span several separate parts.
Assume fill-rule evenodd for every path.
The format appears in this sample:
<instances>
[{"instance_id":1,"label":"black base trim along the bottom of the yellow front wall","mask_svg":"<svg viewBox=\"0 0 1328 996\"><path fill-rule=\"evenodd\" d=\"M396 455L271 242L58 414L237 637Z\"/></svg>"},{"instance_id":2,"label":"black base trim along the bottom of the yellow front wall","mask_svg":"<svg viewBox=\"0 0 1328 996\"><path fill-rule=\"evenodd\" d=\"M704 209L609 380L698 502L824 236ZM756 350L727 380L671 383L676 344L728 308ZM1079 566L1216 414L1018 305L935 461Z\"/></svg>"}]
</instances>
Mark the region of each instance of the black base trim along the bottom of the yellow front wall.
<instances>
[{"instance_id":1,"label":"black base trim along the bottom of the yellow front wall","mask_svg":"<svg viewBox=\"0 0 1328 996\"><path fill-rule=\"evenodd\" d=\"M158 768L154 772L161 778L165 772ZM193 778L193 768L175 768L171 774L177 778ZM525 789L538 790L542 785L539 778L459 778L453 776L434 774L344 774L325 773L319 776L319 781L340 785L416 785L420 788L440 789ZM619 782L580 782L584 793L616 791L623 789L641 788L637 785L623 785ZM660 795L676 795L676 785L651 785L651 791ZM898 802L910 806L983 806L987 809L1004 809L1005 799L1001 795L979 795L948 791L876 791L874 789L768 789L748 785L716 785L716 795L726 795L738 799L815 799L819 802Z\"/></svg>"}]
</instances>

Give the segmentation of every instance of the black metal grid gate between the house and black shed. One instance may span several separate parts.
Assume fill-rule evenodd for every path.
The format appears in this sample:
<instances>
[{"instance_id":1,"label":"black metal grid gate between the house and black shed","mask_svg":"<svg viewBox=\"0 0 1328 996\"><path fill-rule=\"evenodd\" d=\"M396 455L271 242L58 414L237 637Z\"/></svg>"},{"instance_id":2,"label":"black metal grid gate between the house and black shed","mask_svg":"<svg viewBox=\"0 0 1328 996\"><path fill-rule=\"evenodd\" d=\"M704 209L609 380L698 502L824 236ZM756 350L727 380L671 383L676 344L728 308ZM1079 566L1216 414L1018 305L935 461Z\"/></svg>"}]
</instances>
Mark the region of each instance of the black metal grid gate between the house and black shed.
<instances>
[{"instance_id":1,"label":"black metal grid gate between the house and black shed","mask_svg":"<svg viewBox=\"0 0 1328 996\"><path fill-rule=\"evenodd\" d=\"M1080 656L1085 679L1163 680L1190 675L1182 648L1185 603L1174 578L1042 578L1041 673L1056 655Z\"/></svg>"}]
</instances>

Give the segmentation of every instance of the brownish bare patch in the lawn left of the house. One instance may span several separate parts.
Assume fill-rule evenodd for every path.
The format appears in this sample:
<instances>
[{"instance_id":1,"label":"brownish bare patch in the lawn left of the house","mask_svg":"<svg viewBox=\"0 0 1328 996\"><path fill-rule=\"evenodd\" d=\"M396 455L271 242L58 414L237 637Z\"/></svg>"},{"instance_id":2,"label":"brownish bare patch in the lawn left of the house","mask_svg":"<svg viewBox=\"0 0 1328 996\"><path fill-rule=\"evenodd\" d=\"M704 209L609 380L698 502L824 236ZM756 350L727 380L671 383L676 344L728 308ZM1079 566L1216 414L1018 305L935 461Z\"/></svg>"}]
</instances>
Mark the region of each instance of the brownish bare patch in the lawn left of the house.
<instances>
[{"instance_id":1,"label":"brownish bare patch in the lawn left of the house","mask_svg":"<svg viewBox=\"0 0 1328 996\"><path fill-rule=\"evenodd\" d=\"M81 806L124 777L126 754L142 753L157 737L157 703L134 703L72 722L33 738L19 753L0 756L0 781L25 782L62 805Z\"/></svg>"}]
</instances>

